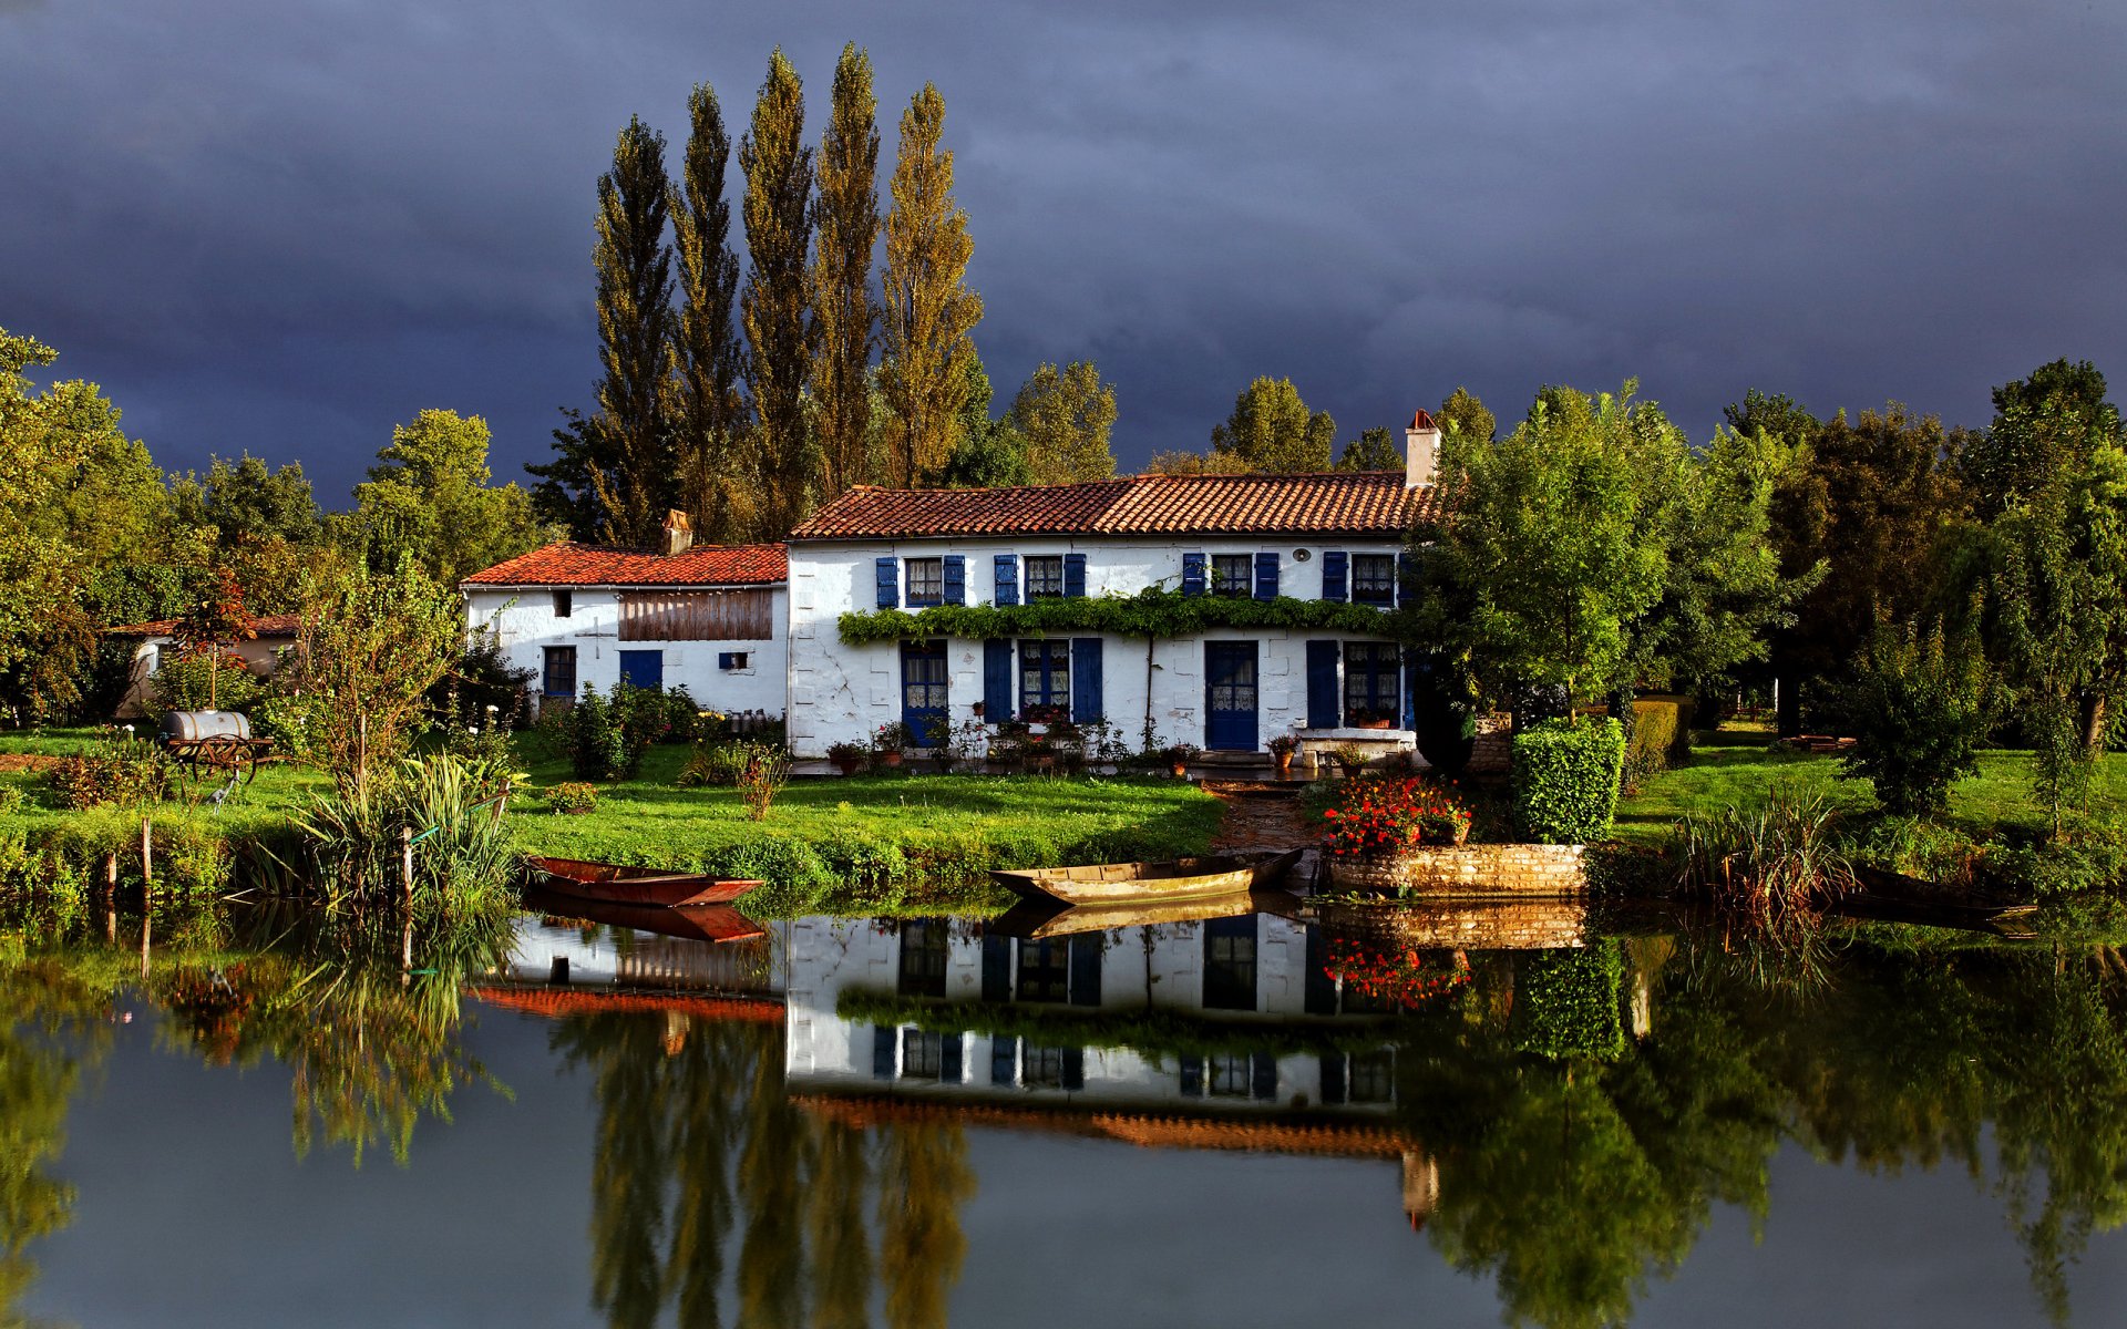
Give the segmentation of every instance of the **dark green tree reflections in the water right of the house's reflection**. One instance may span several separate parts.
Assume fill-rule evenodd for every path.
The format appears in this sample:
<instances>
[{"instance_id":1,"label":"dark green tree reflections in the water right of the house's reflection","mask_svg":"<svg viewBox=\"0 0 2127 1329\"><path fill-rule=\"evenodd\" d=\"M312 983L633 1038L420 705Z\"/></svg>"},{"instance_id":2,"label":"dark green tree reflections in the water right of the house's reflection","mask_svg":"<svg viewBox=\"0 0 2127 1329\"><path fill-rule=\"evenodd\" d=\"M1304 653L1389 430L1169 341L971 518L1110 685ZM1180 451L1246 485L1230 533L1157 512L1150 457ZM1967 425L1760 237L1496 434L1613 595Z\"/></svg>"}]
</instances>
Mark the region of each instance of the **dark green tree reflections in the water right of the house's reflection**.
<instances>
[{"instance_id":1,"label":"dark green tree reflections in the water right of the house's reflection","mask_svg":"<svg viewBox=\"0 0 2127 1329\"><path fill-rule=\"evenodd\" d=\"M1431 1242L1497 1276L1508 1320L1625 1320L1714 1201L1763 1221L1782 1142L1870 1172L1957 1161L1984 1180L1991 1131L1987 1184L2065 1323L2065 1267L2127 1221L2121 974L2029 951L1857 946L1829 982L1768 985L1748 957L1680 959L1653 1036L1612 1061L1517 1055L1485 993L1406 1025L1400 1101L1442 1176Z\"/></svg>"}]
</instances>

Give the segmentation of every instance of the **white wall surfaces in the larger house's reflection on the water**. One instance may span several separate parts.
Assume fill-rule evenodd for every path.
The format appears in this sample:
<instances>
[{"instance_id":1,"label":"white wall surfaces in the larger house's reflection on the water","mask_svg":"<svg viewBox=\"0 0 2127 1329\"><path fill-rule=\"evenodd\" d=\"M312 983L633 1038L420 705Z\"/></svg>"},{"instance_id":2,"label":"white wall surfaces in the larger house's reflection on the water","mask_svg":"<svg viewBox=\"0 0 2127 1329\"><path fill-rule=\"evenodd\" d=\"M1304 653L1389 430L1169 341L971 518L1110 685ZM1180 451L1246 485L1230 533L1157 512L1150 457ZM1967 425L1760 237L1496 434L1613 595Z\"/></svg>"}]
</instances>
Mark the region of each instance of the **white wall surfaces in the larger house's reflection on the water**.
<instances>
[{"instance_id":1,"label":"white wall surfaces in the larger house's reflection on the water","mask_svg":"<svg viewBox=\"0 0 2127 1329\"><path fill-rule=\"evenodd\" d=\"M1306 929L1287 919L1257 914L1257 1008L1221 1010L1219 1019L1259 1023L1336 1023L1349 1016L1306 1016ZM1280 1057L1276 1097L1185 1095L1180 1063L1125 1048L1085 1048L1085 1087L1032 1089L1015 1078L991 1078L987 1033L961 1033L961 1074L955 1082L881 1080L872 1067L872 1025L836 1014L844 989L893 993L900 972L900 936L891 923L864 919L798 919L785 925L787 972L787 1082L793 1091L842 1093L936 1093L961 1099L1070 1101L1115 1108L1187 1108L1274 1112L1321 1106L1321 1059ZM1204 925L1161 923L1093 933L1106 940L1100 1004L1104 1008L1176 1010L1204 1006ZM976 1002L983 995L983 938L974 927L955 925L947 961L947 1002ZM1072 1010L1072 1008L1055 1008ZM947 1036L951 1038L951 1036ZM1338 1112L1387 1112L1387 1104L1334 1106Z\"/></svg>"}]
</instances>

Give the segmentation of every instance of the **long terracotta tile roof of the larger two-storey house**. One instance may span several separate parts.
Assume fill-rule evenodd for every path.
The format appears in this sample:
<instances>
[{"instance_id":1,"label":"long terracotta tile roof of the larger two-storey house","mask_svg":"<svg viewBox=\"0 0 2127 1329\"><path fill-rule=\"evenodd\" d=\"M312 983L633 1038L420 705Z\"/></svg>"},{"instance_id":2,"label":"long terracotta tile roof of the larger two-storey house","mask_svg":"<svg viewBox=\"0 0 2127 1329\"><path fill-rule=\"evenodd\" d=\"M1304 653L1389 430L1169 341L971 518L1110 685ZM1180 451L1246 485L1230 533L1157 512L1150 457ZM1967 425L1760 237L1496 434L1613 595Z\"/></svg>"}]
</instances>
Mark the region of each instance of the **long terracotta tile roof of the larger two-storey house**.
<instances>
[{"instance_id":1,"label":"long terracotta tile roof of the larger two-storey house","mask_svg":"<svg viewBox=\"0 0 2127 1329\"><path fill-rule=\"evenodd\" d=\"M1400 470L1285 476L1127 476L1008 489L857 487L791 532L791 540L904 536L1402 536L1429 515L1431 489Z\"/></svg>"}]
</instances>

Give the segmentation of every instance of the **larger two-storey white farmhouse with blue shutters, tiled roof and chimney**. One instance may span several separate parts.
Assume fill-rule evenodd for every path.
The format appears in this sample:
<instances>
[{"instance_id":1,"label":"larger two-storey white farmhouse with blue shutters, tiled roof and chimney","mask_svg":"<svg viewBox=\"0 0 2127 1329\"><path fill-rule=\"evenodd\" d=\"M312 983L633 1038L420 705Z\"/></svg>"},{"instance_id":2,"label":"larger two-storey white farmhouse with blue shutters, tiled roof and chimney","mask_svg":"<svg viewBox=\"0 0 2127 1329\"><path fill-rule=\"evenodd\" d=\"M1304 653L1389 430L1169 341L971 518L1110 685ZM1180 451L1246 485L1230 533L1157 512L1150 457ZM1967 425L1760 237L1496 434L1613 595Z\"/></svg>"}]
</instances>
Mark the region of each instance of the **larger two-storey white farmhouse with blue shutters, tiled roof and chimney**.
<instances>
[{"instance_id":1,"label":"larger two-storey white farmhouse with blue shutters, tiled roof and chimney","mask_svg":"<svg viewBox=\"0 0 2127 1329\"><path fill-rule=\"evenodd\" d=\"M1421 410L1402 472L1127 476L1004 489L870 489L789 540L789 742L817 757L889 721L1106 719L1129 740L1259 753L1278 734L1410 744L1412 668L1385 632L1289 627L1008 640L842 638L881 608L1183 595L1393 608L1397 555L1434 498ZM1387 731L1383 731L1387 729Z\"/></svg>"}]
</instances>

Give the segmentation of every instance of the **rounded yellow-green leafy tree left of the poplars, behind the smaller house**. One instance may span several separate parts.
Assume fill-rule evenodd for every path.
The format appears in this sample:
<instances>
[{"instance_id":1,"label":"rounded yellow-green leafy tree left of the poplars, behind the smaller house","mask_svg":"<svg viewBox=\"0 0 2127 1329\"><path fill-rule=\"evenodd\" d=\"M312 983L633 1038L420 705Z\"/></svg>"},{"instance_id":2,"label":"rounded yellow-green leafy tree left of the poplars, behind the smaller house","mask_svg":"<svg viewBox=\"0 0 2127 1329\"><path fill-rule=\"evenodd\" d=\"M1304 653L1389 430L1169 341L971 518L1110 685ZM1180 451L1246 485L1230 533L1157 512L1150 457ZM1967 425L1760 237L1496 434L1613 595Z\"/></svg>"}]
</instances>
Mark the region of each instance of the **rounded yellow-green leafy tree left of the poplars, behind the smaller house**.
<instances>
[{"instance_id":1,"label":"rounded yellow-green leafy tree left of the poplars, behind the smaller house","mask_svg":"<svg viewBox=\"0 0 2127 1329\"><path fill-rule=\"evenodd\" d=\"M487 421L423 410L393 425L370 478L355 485L355 510L340 521L374 566L415 559L445 585L536 549L549 529L517 485L491 487Z\"/></svg>"}]
</instances>

